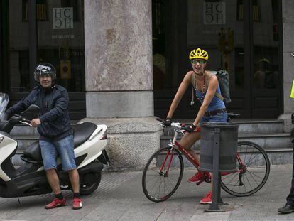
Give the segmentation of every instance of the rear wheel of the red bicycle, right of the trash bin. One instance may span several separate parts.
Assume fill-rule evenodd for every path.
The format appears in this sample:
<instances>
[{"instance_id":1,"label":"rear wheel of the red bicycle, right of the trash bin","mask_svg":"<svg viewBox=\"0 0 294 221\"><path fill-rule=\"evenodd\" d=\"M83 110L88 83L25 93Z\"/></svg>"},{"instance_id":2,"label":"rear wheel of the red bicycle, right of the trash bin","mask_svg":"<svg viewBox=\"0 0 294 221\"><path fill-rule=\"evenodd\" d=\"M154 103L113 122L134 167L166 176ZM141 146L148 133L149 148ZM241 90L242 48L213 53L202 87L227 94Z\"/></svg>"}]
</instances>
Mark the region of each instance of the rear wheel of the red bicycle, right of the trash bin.
<instances>
[{"instance_id":1,"label":"rear wheel of the red bicycle, right of the trash bin","mask_svg":"<svg viewBox=\"0 0 294 221\"><path fill-rule=\"evenodd\" d=\"M237 152L238 171L222 175L221 186L231 195L248 196L260 190L268 180L270 162L266 151L249 141L238 142Z\"/></svg>"}]
</instances>

